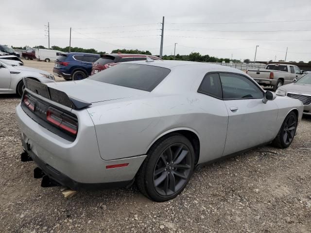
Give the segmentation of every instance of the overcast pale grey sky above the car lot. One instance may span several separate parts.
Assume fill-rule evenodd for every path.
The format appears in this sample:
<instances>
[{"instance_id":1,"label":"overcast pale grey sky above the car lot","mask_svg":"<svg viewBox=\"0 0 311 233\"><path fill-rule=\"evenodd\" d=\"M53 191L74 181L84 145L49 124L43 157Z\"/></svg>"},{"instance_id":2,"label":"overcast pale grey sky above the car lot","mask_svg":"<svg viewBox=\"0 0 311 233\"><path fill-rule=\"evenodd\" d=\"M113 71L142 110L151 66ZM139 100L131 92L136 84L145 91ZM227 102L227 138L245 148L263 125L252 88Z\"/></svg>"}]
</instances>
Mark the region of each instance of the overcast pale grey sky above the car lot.
<instances>
[{"instance_id":1,"label":"overcast pale grey sky above the car lot","mask_svg":"<svg viewBox=\"0 0 311 233\"><path fill-rule=\"evenodd\" d=\"M1 0L0 44L311 61L311 0Z\"/></svg>"}]
</instances>

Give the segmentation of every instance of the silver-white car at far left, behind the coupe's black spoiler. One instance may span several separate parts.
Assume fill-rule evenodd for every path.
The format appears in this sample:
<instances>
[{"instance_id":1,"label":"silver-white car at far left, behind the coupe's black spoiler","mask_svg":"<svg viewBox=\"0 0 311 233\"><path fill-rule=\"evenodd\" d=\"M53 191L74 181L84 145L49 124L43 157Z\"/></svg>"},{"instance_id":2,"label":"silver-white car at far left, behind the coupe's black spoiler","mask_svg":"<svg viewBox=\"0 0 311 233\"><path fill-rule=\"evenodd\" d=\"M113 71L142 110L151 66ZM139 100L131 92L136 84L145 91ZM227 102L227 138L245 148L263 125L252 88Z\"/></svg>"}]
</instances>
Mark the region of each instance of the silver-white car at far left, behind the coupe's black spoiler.
<instances>
[{"instance_id":1,"label":"silver-white car at far left, behind the coupe's black spoiler","mask_svg":"<svg viewBox=\"0 0 311 233\"><path fill-rule=\"evenodd\" d=\"M44 70L12 66L6 61L0 61L0 94L17 93L22 96L24 78L31 78L40 83L55 82L54 76Z\"/></svg>"}]
</instances>

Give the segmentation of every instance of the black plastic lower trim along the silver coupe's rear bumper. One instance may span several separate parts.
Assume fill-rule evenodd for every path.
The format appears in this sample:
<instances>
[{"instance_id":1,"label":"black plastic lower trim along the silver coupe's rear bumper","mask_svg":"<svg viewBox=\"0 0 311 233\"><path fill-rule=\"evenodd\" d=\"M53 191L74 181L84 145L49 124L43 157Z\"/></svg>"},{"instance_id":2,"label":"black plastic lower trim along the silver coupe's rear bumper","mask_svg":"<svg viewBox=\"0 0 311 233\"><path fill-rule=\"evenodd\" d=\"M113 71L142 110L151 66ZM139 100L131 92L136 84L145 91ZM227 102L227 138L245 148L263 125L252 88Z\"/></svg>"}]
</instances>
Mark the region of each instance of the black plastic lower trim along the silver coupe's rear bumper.
<instances>
[{"instance_id":1,"label":"black plastic lower trim along the silver coupe's rear bumper","mask_svg":"<svg viewBox=\"0 0 311 233\"><path fill-rule=\"evenodd\" d=\"M98 190L98 189L113 189L126 187L133 183L130 181L112 182L112 183L80 183L72 180L65 174L56 170L52 166L46 164L44 161L38 158L32 151L27 150L27 153L34 160L35 164L41 168L41 170L53 181L69 187L71 190L81 191L81 190Z\"/></svg>"}]
</instances>

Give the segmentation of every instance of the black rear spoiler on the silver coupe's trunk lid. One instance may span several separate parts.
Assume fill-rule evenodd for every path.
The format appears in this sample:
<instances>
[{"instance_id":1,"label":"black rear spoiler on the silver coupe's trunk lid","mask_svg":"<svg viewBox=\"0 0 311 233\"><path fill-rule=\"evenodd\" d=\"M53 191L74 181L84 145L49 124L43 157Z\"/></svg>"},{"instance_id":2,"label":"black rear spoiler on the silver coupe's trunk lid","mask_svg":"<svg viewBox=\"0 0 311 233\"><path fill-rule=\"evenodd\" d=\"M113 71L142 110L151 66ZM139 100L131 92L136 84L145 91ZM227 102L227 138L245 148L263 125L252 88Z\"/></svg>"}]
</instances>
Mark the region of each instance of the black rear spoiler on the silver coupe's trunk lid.
<instances>
[{"instance_id":1,"label":"black rear spoiler on the silver coupe's trunk lid","mask_svg":"<svg viewBox=\"0 0 311 233\"><path fill-rule=\"evenodd\" d=\"M28 90L34 92L35 94L40 95L46 99L55 101L57 103L60 103L69 108L83 109L91 105L91 103L69 97L63 91L48 87L44 83L40 83L29 78L24 78L24 84Z\"/></svg>"}]
</instances>

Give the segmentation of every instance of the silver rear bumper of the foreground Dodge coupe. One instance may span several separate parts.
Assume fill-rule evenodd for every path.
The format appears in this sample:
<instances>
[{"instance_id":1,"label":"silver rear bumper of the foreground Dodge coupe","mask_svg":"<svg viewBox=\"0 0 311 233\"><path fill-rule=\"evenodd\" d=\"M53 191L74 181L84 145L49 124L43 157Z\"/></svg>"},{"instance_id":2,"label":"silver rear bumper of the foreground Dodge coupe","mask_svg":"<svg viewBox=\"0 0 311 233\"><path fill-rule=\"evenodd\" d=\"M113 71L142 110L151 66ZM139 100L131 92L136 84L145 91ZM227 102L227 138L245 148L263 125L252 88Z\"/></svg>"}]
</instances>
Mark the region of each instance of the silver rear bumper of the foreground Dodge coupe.
<instances>
[{"instance_id":1,"label":"silver rear bumper of the foreground Dodge coupe","mask_svg":"<svg viewBox=\"0 0 311 233\"><path fill-rule=\"evenodd\" d=\"M120 182L117 186L126 185L134 179L146 158L146 155L139 155L103 160L99 153L95 127L87 111L80 111L78 115L79 130L74 142L61 138L36 123L23 111L20 104L17 105L16 116L25 151L52 180L73 190L89 186L111 187L114 185L111 183L116 182ZM30 150L27 150L26 143ZM128 166L106 167L117 164Z\"/></svg>"}]
</instances>

